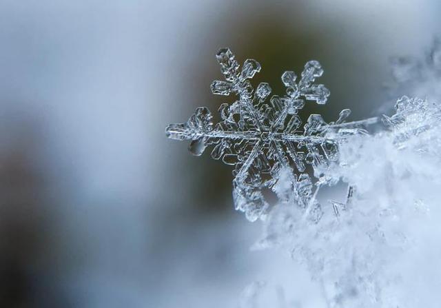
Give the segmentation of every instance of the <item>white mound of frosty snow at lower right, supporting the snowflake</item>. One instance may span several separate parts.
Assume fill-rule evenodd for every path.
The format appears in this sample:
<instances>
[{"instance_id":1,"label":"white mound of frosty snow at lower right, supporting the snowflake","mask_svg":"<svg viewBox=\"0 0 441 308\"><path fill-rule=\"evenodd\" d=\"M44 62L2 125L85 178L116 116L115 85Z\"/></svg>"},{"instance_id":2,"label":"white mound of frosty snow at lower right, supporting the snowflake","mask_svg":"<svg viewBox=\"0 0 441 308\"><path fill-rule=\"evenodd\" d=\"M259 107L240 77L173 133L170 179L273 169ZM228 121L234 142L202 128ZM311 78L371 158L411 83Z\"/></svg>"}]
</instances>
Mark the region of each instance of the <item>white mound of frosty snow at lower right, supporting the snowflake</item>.
<instances>
[{"instance_id":1,"label":"white mound of frosty snow at lower right, supporting the snowflake","mask_svg":"<svg viewBox=\"0 0 441 308\"><path fill-rule=\"evenodd\" d=\"M320 283L327 307L439 306L441 106L402 96L395 107L375 134L339 144L338 163L322 175L349 187L330 202L333 211L311 207L309 217L279 203L255 245L290 251Z\"/></svg>"}]
</instances>

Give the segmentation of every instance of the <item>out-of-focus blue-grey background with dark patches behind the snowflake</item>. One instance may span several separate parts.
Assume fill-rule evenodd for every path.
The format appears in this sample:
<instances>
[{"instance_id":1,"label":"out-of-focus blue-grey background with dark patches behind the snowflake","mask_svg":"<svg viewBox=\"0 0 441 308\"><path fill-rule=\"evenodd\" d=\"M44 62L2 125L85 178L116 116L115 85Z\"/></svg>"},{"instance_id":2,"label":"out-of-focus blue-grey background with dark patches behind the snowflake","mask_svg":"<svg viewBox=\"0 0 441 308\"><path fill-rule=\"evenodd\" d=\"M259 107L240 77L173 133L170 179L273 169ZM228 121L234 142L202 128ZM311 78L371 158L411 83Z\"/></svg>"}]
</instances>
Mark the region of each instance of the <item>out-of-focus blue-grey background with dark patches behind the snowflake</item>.
<instances>
[{"instance_id":1,"label":"out-of-focus blue-grey background with dark patches behind the snowflake","mask_svg":"<svg viewBox=\"0 0 441 308\"><path fill-rule=\"evenodd\" d=\"M165 126L231 102L209 90L226 46L240 63L257 59L254 82L279 94L285 70L320 61L331 99L307 112L376 115L389 57L422 54L440 10L437 0L1 0L0 306L260 307L240 294L266 281L246 292L322 307L283 251L249 249L260 224L234 211L231 169L191 156Z\"/></svg>"}]
</instances>

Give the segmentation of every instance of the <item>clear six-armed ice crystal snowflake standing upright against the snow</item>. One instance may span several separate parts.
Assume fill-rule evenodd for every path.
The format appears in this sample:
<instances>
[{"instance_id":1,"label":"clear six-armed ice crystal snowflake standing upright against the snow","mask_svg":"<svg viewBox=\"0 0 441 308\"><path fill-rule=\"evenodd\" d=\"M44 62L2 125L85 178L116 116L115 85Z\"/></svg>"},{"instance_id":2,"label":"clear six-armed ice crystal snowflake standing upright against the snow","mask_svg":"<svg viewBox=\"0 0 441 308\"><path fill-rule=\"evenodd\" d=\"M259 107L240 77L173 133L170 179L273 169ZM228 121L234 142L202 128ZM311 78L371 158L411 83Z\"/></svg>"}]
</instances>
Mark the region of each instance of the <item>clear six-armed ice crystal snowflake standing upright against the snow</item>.
<instances>
[{"instance_id":1,"label":"clear six-armed ice crystal snowflake standing upright against the snow","mask_svg":"<svg viewBox=\"0 0 441 308\"><path fill-rule=\"evenodd\" d=\"M339 143L348 135L365 132L362 127L377 119L345 123L351 113L345 109L331 123L326 123L320 114L311 114L300 128L298 112L305 102L325 104L330 94L324 85L315 83L323 74L318 61L305 64L300 80L292 71L283 73L286 94L269 99L268 83L260 83L254 90L249 81L260 72L256 60L247 59L240 70L229 49L219 50L216 58L225 81L214 81L212 92L235 94L237 100L220 105L221 121L216 125L207 107L198 107L186 123L168 125L167 136L191 140L189 150L197 156L213 145L212 158L234 166L235 207L245 212L249 220L265 217L269 204L263 192L271 189L280 200L289 199L318 221L321 209L316 194L320 186L338 181L322 174L330 163L338 161Z\"/></svg>"}]
</instances>

